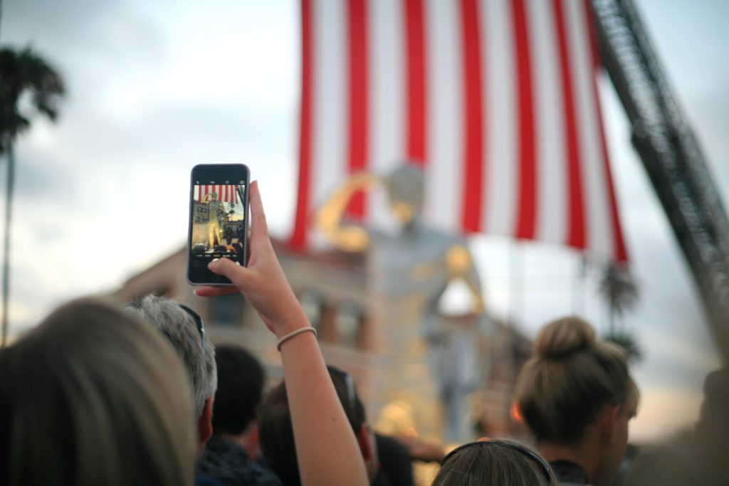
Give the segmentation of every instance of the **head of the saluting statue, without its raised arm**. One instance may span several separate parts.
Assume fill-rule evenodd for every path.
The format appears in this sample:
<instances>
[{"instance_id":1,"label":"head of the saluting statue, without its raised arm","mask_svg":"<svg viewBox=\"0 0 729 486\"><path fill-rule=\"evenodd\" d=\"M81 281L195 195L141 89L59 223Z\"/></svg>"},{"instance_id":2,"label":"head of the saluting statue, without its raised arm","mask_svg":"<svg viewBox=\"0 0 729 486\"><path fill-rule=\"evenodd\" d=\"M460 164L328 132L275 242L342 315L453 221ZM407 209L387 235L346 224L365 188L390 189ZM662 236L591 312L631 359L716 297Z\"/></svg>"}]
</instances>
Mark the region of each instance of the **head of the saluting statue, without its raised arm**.
<instances>
[{"instance_id":1,"label":"head of the saluting statue, without its raised arm","mask_svg":"<svg viewBox=\"0 0 729 486\"><path fill-rule=\"evenodd\" d=\"M384 181L395 217L403 224L412 222L420 214L423 205L423 171L412 162L405 161Z\"/></svg>"}]
</instances>

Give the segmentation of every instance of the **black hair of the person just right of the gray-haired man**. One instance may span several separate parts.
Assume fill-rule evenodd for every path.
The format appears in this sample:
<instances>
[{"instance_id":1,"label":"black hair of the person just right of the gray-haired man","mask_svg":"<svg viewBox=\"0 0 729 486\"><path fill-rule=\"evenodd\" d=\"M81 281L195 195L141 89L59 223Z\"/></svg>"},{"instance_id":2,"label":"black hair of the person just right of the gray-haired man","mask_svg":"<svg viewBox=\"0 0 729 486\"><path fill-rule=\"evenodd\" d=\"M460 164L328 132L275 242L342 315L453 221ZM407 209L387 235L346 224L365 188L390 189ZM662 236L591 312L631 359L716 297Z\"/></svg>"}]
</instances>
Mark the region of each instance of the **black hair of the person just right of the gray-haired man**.
<instances>
[{"instance_id":1,"label":"black hair of the person just right of the gray-haired man","mask_svg":"<svg viewBox=\"0 0 729 486\"><path fill-rule=\"evenodd\" d=\"M214 434L242 434L255 418L265 373L259 361L238 346L215 350L218 389L213 404Z\"/></svg>"}]
</instances>

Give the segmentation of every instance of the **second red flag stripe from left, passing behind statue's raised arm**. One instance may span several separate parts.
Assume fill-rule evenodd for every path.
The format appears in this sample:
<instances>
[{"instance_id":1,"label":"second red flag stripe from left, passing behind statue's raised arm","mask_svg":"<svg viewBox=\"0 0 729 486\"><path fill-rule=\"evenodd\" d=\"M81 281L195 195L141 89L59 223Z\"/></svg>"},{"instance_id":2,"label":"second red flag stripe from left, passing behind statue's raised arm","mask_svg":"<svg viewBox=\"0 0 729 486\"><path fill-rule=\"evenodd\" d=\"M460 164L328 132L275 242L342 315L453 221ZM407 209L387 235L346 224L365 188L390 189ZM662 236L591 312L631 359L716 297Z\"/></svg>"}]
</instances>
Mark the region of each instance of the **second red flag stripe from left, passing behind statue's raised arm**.
<instances>
[{"instance_id":1,"label":"second red flag stripe from left, passing behind statue's raised arm","mask_svg":"<svg viewBox=\"0 0 729 486\"><path fill-rule=\"evenodd\" d=\"M349 173L367 168L367 5L347 2L349 34ZM364 192L351 199L348 216L364 218Z\"/></svg>"}]
</instances>

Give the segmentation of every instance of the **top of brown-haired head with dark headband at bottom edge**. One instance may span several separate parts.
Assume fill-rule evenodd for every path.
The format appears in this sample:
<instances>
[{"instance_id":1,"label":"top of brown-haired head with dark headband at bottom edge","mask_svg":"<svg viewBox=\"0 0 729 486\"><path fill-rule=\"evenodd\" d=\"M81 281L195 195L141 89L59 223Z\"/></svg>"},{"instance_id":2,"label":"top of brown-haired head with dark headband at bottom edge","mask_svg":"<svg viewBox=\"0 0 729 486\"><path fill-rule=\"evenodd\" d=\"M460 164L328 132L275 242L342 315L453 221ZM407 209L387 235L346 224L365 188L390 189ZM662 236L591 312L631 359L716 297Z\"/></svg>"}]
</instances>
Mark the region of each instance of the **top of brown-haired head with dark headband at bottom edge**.
<instances>
[{"instance_id":1,"label":"top of brown-haired head with dark headband at bottom edge","mask_svg":"<svg viewBox=\"0 0 729 486\"><path fill-rule=\"evenodd\" d=\"M469 442L445 456L433 486L558 486L549 465L518 442Z\"/></svg>"}]
</instances>

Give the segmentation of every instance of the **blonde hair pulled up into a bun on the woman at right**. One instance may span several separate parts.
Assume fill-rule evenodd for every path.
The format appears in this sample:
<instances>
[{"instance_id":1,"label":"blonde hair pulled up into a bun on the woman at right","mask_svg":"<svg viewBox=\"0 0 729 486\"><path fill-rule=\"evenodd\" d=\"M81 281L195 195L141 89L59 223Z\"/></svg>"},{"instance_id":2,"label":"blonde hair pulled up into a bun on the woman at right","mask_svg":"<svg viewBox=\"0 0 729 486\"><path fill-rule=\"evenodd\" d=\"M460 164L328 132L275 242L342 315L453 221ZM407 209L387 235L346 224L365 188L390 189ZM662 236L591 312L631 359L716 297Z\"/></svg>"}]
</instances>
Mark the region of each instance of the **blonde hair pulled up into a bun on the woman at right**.
<instances>
[{"instance_id":1,"label":"blonde hair pulled up into a bun on the woman at right","mask_svg":"<svg viewBox=\"0 0 729 486\"><path fill-rule=\"evenodd\" d=\"M534 356L516 383L519 411L537 440L578 442L607 404L620 407L638 399L625 351L596 340L577 317L553 321L534 342Z\"/></svg>"}]
</instances>

